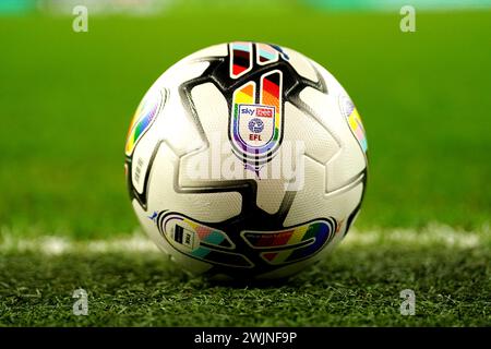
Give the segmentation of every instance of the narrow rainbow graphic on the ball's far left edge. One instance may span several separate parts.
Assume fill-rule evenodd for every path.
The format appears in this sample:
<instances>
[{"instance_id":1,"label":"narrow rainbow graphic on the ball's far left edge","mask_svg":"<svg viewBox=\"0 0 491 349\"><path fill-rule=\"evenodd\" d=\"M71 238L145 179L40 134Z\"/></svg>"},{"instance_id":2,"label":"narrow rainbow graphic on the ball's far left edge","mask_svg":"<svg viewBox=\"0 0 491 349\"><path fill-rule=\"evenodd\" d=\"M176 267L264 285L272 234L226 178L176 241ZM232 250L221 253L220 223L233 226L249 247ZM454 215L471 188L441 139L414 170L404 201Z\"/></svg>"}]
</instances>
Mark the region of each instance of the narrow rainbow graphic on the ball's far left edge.
<instances>
[{"instance_id":1,"label":"narrow rainbow graphic on the ball's far left edge","mask_svg":"<svg viewBox=\"0 0 491 349\"><path fill-rule=\"evenodd\" d=\"M161 100L163 97L160 92L152 92L145 96L137 107L133 120L131 121L130 130L128 131L125 146L127 156L130 156L133 153L136 143L155 121Z\"/></svg>"}]
</instances>

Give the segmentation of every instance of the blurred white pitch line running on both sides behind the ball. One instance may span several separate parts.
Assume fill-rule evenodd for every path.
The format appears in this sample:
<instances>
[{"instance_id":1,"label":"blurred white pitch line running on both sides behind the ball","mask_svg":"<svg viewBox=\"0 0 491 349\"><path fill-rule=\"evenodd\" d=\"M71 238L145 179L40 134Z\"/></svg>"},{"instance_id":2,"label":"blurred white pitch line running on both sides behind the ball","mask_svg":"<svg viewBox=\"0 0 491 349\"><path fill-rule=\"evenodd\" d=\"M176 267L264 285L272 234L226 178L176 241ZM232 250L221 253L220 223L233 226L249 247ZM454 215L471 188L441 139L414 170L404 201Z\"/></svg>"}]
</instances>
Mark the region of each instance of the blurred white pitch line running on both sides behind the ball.
<instances>
[{"instance_id":1,"label":"blurred white pitch line running on both sides behind the ball","mask_svg":"<svg viewBox=\"0 0 491 349\"><path fill-rule=\"evenodd\" d=\"M342 248L358 248L376 245L381 243L411 244L414 246L442 245L453 248L476 248L489 243L491 239L489 226L480 229L480 232L458 230L448 226L430 225L419 231L412 229L352 229ZM93 253L159 253L157 246L144 236L134 233L130 237L111 238L107 240L76 241L60 236L41 236L38 238L16 238L11 231L1 229L0 253L2 252L37 252L47 255L60 255L71 252Z\"/></svg>"}]
</instances>

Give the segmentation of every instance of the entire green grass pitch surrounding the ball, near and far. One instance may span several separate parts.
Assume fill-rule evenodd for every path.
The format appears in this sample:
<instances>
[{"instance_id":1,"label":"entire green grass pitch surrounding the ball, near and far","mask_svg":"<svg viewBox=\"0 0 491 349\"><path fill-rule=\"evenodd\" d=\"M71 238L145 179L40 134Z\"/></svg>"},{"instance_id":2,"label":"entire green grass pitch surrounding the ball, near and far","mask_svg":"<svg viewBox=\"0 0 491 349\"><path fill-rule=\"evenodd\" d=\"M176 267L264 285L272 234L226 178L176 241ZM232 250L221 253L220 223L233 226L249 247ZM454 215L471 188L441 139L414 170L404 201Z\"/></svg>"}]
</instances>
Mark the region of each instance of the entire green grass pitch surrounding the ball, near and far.
<instances>
[{"instance_id":1,"label":"entire green grass pitch surrounding the ball, near and far","mask_svg":"<svg viewBox=\"0 0 491 349\"><path fill-rule=\"evenodd\" d=\"M72 17L0 19L0 325L490 325L491 13L418 12L410 34L398 13L240 19L275 25L207 10L91 17L84 34ZM237 39L325 65L368 131L358 232L286 285L214 285L154 250L104 248L139 229L122 161L141 97L178 59ZM81 287L88 316L72 314Z\"/></svg>"}]
</instances>

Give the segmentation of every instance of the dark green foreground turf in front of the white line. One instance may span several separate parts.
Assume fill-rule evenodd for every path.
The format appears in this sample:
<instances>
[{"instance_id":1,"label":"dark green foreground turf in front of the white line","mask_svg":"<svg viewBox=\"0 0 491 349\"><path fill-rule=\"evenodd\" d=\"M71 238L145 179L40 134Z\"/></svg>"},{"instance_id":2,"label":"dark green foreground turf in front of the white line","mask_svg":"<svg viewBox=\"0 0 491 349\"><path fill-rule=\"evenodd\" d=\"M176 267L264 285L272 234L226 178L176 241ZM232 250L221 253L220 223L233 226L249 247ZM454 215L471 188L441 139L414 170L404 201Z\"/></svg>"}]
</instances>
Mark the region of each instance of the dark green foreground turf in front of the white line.
<instances>
[{"instance_id":1,"label":"dark green foreground turf in front of the white line","mask_svg":"<svg viewBox=\"0 0 491 349\"><path fill-rule=\"evenodd\" d=\"M7 253L0 326L489 326L489 230L479 245L349 241L323 264L273 286L190 278L160 253ZM88 315L72 313L73 291ZM399 313L399 292L416 314Z\"/></svg>"}]
</instances>

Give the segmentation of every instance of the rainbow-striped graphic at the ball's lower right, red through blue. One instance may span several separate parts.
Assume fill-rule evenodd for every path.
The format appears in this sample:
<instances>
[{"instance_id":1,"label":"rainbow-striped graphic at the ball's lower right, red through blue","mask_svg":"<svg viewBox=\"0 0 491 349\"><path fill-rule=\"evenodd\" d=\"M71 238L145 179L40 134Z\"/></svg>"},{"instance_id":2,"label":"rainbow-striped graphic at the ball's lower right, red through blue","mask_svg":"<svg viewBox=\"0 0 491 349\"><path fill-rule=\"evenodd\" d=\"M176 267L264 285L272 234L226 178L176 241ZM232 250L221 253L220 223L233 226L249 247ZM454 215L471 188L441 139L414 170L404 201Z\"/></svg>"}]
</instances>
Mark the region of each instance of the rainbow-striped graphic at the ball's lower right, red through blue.
<instances>
[{"instance_id":1,"label":"rainbow-striped graphic at the ball's lower right, red through blue","mask_svg":"<svg viewBox=\"0 0 491 349\"><path fill-rule=\"evenodd\" d=\"M334 237L336 230L336 220L330 218L282 231L244 231L242 236L252 248L268 250L261 256L267 263L277 265L312 256ZM275 251L277 249L282 250Z\"/></svg>"}]
</instances>

